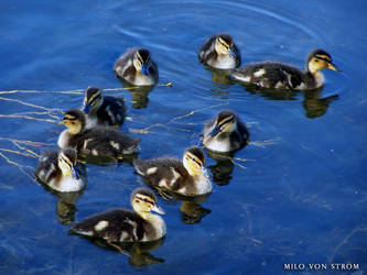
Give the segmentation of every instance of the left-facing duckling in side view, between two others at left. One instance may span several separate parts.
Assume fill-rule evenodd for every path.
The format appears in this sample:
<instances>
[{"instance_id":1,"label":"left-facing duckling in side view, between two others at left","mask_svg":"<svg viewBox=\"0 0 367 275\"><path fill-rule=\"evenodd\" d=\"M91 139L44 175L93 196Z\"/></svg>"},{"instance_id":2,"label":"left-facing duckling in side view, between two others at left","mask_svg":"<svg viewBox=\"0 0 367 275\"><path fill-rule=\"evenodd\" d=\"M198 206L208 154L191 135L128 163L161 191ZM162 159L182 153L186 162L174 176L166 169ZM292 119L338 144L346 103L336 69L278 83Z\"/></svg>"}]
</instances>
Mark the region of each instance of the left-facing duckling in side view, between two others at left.
<instances>
[{"instance_id":1,"label":"left-facing duckling in side view, between two others at left","mask_svg":"<svg viewBox=\"0 0 367 275\"><path fill-rule=\"evenodd\" d=\"M122 154L132 154L139 150L139 139L130 138L115 129L85 129L86 117L77 109L64 114L66 125L57 141L61 148L75 147L78 154L85 156L119 158Z\"/></svg>"}]
</instances>

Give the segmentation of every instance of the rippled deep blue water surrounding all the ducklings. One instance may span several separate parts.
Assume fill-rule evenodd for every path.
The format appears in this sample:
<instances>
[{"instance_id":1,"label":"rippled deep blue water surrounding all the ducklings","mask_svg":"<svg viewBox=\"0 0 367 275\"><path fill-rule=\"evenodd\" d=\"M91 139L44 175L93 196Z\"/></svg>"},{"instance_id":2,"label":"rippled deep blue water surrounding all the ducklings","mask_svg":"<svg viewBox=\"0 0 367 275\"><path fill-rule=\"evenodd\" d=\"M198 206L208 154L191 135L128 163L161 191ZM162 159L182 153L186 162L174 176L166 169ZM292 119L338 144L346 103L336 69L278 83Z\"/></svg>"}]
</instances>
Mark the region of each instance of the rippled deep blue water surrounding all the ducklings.
<instances>
[{"instance_id":1,"label":"rippled deep blue water surrounding all the ducklings","mask_svg":"<svg viewBox=\"0 0 367 275\"><path fill-rule=\"evenodd\" d=\"M39 91L0 95L1 274L327 274L332 263L358 264L337 274L366 271L364 1L6 0L0 7L0 89ZM197 62L199 45L216 32L234 36L242 64L279 59L303 67L309 52L321 47L343 73L325 72L319 92L247 91ZM181 157L224 108L247 122L251 143L235 154L235 165L207 155L207 166L218 164L212 170L222 173L208 198L160 197L168 235L133 248L129 260L68 235L65 223L129 207L131 190L142 185L133 168L87 165L84 194L58 198L28 176L36 158L25 148L39 154L55 146L63 130L55 121L82 105L87 86L120 88L112 65L131 46L150 48L160 84L173 82L145 95L106 91L127 99L130 119L121 130L142 139L140 157ZM180 211L193 207L203 217ZM305 268L283 271L291 263ZM325 263L327 271L310 271L309 263Z\"/></svg>"}]
</instances>

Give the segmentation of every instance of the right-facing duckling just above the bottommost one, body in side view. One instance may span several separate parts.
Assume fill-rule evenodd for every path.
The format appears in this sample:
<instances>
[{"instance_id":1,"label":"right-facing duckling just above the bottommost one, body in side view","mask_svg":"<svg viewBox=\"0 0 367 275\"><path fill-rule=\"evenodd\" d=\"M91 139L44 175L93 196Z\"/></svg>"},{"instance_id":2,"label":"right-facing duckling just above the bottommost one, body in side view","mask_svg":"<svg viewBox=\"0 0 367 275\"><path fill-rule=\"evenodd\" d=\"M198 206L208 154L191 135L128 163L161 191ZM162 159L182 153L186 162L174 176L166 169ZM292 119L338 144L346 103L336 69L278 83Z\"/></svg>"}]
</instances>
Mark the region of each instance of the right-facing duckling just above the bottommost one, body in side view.
<instances>
[{"instance_id":1,"label":"right-facing duckling just above the bottommost one, body in side view","mask_svg":"<svg viewBox=\"0 0 367 275\"><path fill-rule=\"evenodd\" d=\"M204 165L204 153L197 146L188 147L182 162L169 157L133 161L138 174L150 185L184 196L198 196L212 191L212 183Z\"/></svg>"}]
</instances>

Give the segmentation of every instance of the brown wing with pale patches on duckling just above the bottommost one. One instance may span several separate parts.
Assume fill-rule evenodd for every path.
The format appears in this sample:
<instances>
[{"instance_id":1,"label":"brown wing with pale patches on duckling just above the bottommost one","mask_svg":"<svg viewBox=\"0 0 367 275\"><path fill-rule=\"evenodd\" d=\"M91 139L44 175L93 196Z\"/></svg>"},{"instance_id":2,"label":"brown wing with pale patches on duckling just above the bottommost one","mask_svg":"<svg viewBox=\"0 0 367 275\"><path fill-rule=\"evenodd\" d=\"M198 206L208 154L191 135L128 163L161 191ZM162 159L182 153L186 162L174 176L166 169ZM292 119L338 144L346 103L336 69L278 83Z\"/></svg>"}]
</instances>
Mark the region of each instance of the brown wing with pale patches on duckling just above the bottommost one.
<instances>
[{"instance_id":1,"label":"brown wing with pale patches on duckling just above the bottommost one","mask_svg":"<svg viewBox=\"0 0 367 275\"><path fill-rule=\"evenodd\" d=\"M175 158L134 160L133 166L150 185L179 191L191 184L191 176L182 162Z\"/></svg>"}]
</instances>

